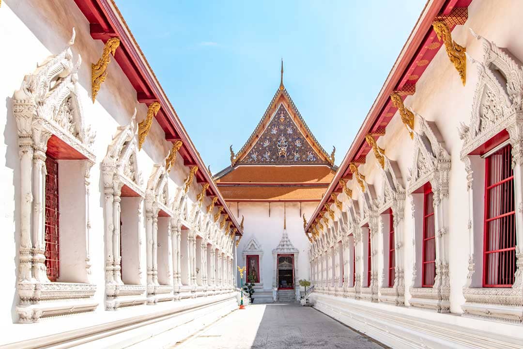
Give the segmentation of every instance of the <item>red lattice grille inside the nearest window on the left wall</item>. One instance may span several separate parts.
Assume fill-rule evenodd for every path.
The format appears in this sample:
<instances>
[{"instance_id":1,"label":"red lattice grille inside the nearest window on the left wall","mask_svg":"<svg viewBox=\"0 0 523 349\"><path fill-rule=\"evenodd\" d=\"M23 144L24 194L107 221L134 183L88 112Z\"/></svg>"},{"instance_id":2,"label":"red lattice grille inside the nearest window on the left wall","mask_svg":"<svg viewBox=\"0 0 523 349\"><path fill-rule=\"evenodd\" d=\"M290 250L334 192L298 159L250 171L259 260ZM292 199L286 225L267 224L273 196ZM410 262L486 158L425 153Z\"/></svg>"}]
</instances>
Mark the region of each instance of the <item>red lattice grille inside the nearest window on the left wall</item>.
<instances>
[{"instance_id":1,"label":"red lattice grille inside the nearest window on the left wall","mask_svg":"<svg viewBox=\"0 0 523 349\"><path fill-rule=\"evenodd\" d=\"M51 156L46 158L46 207L44 223L44 242L46 244L47 277L56 282L60 277L60 239L59 239L59 194L58 194L58 162Z\"/></svg>"}]
</instances>

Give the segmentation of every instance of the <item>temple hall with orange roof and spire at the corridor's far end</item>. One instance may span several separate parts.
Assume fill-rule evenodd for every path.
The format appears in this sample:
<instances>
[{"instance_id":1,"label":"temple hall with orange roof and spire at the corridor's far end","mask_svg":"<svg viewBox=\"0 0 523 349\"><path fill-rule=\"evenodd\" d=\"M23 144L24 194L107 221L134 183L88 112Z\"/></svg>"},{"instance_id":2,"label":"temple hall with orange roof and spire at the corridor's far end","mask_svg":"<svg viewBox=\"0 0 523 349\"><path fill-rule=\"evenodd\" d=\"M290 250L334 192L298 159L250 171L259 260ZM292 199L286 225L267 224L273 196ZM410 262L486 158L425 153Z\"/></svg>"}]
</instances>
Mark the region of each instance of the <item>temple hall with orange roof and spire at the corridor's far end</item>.
<instances>
[{"instance_id":1,"label":"temple hall with orange roof and spire at the corridor's far end","mask_svg":"<svg viewBox=\"0 0 523 349\"><path fill-rule=\"evenodd\" d=\"M309 275L304 217L322 199L336 166L334 150L323 149L285 88L283 61L280 85L256 129L240 151L232 145L230 151L231 165L214 179L235 218L245 220L248 233L237 254L246 275L254 270L256 299L295 299L298 280Z\"/></svg>"}]
</instances>

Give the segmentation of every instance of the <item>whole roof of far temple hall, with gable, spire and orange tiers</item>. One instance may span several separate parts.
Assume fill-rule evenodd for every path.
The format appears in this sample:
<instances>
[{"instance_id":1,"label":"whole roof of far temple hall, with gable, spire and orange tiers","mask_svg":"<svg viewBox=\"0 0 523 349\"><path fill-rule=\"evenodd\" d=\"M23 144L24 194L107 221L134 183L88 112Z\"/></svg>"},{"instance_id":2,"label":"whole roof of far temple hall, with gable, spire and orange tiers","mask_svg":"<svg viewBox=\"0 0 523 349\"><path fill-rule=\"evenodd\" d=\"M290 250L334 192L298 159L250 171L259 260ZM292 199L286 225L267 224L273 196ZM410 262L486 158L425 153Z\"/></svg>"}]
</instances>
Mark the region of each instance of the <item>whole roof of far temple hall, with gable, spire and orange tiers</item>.
<instances>
[{"instance_id":1,"label":"whole roof of far temple hall, with gable, spire and orange tiers","mask_svg":"<svg viewBox=\"0 0 523 349\"><path fill-rule=\"evenodd\" d=\"M283 85L231 166L214 176L228 201L319 201L334 178L334 151L323 149Z\"/></svg>"}]
</instances>

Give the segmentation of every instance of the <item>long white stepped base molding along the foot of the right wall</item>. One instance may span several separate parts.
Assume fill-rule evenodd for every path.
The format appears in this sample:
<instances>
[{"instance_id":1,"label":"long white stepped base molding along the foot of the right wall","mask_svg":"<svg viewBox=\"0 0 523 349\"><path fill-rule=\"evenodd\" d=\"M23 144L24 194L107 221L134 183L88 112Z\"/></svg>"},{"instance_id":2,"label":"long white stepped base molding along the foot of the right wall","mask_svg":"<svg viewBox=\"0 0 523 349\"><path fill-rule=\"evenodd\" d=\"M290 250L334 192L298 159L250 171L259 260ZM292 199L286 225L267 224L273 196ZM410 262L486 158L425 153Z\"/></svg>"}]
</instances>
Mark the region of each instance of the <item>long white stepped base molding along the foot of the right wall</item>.
<instances>
[{"instance_id":1,"label":"long white stepped base molding along the foot of the right wall","mask_svg":"<svg viewBox=\"0 0 523 349\"><path fill-rule=\"evenodd\" d=\"M314 308L394 348L523 348L517 325L349 298L310 296Z\"/></svg>"}]
</instances>

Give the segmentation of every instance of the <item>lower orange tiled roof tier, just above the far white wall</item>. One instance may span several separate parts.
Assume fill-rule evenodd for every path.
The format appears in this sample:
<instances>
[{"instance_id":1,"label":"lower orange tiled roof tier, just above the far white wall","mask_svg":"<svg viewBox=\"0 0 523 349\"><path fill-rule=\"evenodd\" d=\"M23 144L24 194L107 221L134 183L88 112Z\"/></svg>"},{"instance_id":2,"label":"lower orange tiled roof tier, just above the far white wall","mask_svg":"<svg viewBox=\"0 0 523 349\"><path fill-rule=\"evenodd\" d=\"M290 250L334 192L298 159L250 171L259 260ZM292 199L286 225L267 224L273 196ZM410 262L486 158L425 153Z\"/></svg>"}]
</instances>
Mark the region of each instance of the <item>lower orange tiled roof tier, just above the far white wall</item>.
<instances>
[{"instance_id":1,"label":"lower orange tiled roof tier, just above the far white wall","mask_svg":"<svg viewBox=\"0 0 523 349\"><path fill-rule=\"evenodd\" d=\"M327 186L297 187L297 186L220 186L220 192L225 200L308 200L320 201Z\"/></svg>"}]
</instances>

